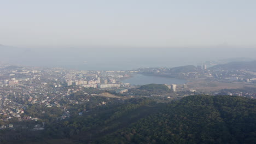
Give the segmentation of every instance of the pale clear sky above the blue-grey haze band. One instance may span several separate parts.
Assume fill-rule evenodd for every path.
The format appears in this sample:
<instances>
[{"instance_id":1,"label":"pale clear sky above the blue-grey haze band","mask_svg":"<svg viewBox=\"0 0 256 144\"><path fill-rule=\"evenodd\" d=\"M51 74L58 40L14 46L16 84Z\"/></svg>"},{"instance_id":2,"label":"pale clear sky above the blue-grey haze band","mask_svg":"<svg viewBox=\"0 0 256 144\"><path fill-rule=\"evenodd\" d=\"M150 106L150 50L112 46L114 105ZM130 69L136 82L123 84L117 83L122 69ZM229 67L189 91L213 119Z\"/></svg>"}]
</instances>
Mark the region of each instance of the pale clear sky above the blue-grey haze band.
<instances>
[{"instance_id":1,"label":"pale clear sky above the blue-grey haze band","mask_svg":"<svg viewBox=\"0 0 256 144\"><path fill-rule=\"evenodd\" d=\"M2 0L0 44L256 45L256 1Z\"/></svg>"}]
</instances>

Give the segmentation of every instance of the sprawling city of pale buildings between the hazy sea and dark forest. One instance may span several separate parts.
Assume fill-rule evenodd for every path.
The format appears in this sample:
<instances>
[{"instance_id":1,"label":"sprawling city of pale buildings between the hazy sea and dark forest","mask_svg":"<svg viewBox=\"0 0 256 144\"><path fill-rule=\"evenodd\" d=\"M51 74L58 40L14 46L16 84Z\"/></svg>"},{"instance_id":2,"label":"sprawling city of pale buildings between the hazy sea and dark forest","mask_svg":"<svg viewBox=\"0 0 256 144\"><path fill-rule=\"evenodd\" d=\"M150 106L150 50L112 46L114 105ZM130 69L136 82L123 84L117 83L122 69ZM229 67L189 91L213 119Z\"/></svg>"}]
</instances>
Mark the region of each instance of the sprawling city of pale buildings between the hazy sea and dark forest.
<instances>
[{"instance_id":1,"label":"sprawling city of pale buildings between the hazy sea and dark forest","mask_svg":"<svg viewBox=\"0 0 256 144\"><path fill-rule=\"evenodd\" d=\"M92 71L70 70L64 68L23 67L1 64L0 70L0 129L13 128L15 121L38 121L37 117L26 115L28 105L41 105L44 107L60 107L63 110L62 119L68 118L72 113L67 109L68 104L79 104L90 101L91 97L109 94L113 98L129 99L136 97L130 89L140 86L123 83L133 75L149 75L160 77L174 77L185 79L187 83L165 83L170 94L155 94L144 96L162 96L168 98L185 97L195 94L211 95L238 95L256 98L256 72L250 70L207 69L206 65L197 67L188 65L176 68L140 68L136 70L118 71ZM196 88L197 82L207 81L206 86L212 91ZM217 83L218 82L218 83ZM221 83L221 84L219 84ZM223 85L218 88L218 85ZM163 83L164 84L164 83ZM232 87L236 86L236 90ZM238 88L237 88L238 86ZM202 87L202 86L199 86ZM230 87L230 88L228 88ZM240 89L239 89L240 88ZM105 95L102 93L105 92ZM72 94L83 93L90 97L73 99ZM108 98L109 99L109 98ZM65 101L65 103L63 103ZM106 105L107 101L100 101L96 105ZM85 110L86 111L86 110ZM45 113L45 111L42 111ZM82 115L82 112L79 112ZM33 130L42 130L43 125L34 125Z\"/></svg>"}]
</instances>

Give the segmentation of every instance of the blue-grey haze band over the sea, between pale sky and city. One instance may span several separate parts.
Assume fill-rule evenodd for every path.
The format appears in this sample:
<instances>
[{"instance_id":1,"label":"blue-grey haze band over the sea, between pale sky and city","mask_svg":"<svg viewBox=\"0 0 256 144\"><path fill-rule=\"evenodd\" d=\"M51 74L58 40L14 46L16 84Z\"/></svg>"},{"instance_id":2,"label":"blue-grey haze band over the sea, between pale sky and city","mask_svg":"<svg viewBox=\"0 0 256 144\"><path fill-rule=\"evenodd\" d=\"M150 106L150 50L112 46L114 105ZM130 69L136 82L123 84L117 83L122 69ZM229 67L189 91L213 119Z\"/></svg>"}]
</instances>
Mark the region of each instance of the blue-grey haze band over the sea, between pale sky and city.
<instances>
[{"instance_id":1,"label":"blue-grey haze band over the sea, between pale sky and city","mask_svg":"<svg viewBox=\"0 0 256 144\"><path fill-rule=\"evenodd\" d=\"M129 70L141 67L199 65L221 59L255 59L256 49L234 47L139 48L54 47L31 49L0 46L0 61L39 67L66 67L88 70ZM234 60L235 61L235 60Z\"/></svg>"}]
</instances>

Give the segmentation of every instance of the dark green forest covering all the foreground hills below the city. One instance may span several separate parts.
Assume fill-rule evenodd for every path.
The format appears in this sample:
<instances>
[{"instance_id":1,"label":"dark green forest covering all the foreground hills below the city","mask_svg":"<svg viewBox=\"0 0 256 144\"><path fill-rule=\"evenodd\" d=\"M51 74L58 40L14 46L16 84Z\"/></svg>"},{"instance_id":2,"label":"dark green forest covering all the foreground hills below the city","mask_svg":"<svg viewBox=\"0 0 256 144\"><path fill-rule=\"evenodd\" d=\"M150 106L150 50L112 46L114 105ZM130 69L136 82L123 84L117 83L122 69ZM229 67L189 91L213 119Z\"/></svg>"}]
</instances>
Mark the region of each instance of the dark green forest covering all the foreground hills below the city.
<instances>
[{"instance_id":1,"label":"dark green forest covering all the foreground hills below the city","mask_svg":"<svg viewBox=\"0 0 256 144\"><path fill-rule=\"evenodd\" d=\"M52 119L33 139L24 135L2 142L255 143L255 135L256 100L194 95L168 104L135 98L103 105L69 119Z\"/></svg>"}]
</instances>

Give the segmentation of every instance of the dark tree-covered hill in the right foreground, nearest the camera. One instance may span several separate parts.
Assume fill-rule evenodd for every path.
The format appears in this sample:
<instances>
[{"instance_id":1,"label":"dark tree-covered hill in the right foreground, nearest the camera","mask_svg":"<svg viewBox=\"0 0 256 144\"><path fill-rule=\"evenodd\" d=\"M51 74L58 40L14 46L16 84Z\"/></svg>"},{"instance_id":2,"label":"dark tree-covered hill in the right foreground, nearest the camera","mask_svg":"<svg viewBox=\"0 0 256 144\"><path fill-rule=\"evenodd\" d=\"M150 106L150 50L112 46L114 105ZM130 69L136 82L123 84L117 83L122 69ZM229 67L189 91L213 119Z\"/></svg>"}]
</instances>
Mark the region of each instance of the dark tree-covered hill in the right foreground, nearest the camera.
<instances>
[{"instance_id":1,"label":"dark tree-covered hill in the right foreground, nearest the camera","mask_svg":"<svg viewBox=\"0 0 256 144\"><path fill-rule=\"evenodd\" d=\"M255 143L256 100L190 96L95 143Z\"/></svg>"}]
</instances>

